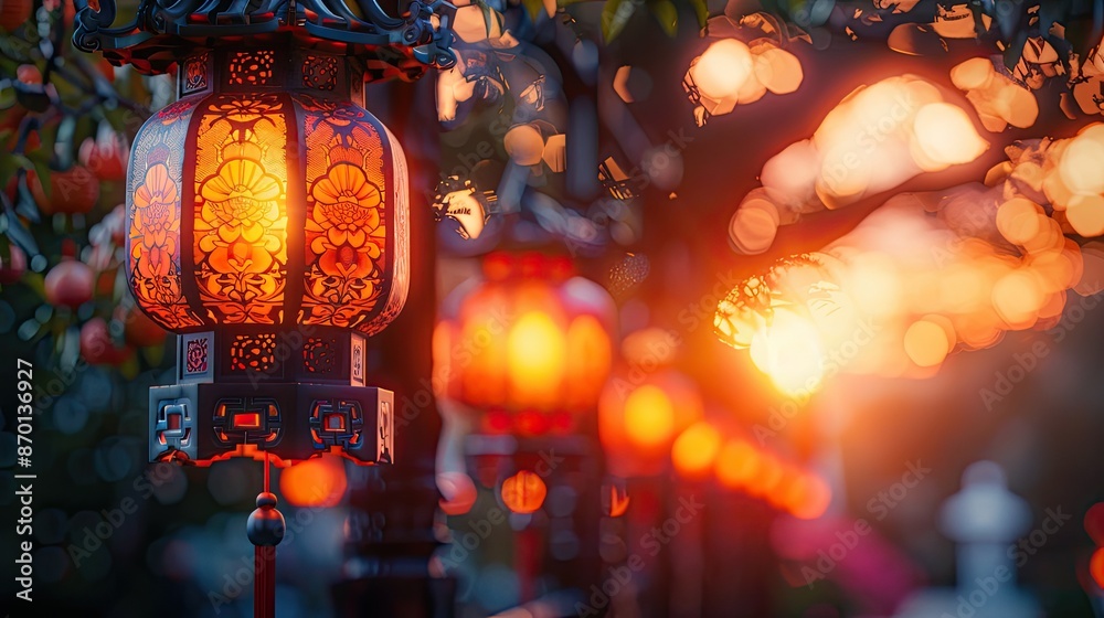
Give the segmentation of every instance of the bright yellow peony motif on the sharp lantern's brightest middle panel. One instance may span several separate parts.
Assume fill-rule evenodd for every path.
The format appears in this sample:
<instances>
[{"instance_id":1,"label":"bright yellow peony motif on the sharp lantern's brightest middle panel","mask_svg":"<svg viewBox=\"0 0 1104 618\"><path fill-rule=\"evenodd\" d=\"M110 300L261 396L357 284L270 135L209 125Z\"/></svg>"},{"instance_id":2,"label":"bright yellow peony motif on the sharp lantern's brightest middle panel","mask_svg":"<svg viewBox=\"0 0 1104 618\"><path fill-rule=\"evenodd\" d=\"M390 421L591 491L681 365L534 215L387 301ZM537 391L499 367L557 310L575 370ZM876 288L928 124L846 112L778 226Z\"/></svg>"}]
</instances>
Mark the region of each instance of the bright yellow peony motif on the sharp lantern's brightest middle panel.
<instances>
[{"instance_id":1,"label":"bright yellow peony motif on the sharp lantern's brightest middle panel","mask_svg":"<svg viewBox=\"0 0 1104 618\"><path fill-rule=\"evenodd\" d=\"M280 214L279 180L248 159L230 159L200 189L203 206L199 242L219 271L266 273L283 247L273 231L287 222ZM213 233L212 233L213 232Z\"/></svg>"}]
</instances>

